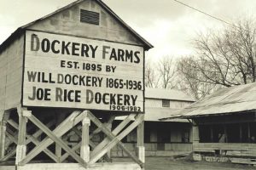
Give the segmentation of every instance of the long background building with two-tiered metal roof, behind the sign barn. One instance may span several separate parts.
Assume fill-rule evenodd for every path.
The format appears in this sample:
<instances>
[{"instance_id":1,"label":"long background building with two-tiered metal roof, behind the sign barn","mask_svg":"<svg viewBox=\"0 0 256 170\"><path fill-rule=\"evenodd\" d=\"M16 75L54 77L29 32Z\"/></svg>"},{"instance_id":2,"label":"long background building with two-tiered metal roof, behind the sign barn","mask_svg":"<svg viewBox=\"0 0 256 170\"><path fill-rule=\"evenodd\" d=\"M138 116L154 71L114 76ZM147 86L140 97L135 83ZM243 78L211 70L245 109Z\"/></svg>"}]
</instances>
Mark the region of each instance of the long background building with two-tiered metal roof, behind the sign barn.
<instances>
[{"instance_id":1,"label":"long background building with two-tiered metal roof, behind the sign barn","mask_svg":"<svg viewBox=\"0 0 256 170\"><path fill-rule=\"evenodd\" d=\"M192 151L191 123L186 119L160 121L195 102L189 95L176 89L146 88L144 144L146 156L176 156ZM124 117L117 117L115 123ZM123 139L124 144L135 152L137 132L132 131ZM126 156L118 146L112 156Z\"/></svg>"}]
</instances>

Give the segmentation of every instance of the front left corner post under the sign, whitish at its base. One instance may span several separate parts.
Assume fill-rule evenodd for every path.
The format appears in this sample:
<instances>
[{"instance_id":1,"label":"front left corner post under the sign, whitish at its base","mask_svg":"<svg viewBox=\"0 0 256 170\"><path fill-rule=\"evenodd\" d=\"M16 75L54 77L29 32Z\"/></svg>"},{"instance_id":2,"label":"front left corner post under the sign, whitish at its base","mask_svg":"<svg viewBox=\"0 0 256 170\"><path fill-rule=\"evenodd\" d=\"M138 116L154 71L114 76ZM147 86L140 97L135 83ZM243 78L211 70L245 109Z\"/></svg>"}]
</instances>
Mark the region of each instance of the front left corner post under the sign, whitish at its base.
<instances>
[{"instance_id":1,"label":"front left corner post under the sign, whitish at its base","mask_svg":"<svg viewBox=\"0 0 256 170\"><path fill-rule=\"evenodd\" d=\"M26 108L18 107L17 111L19 114L19 134L16 148L16 165L26 157L26 116L31 115L31 111L26 111Z\"/></svg>"}]
</instances>

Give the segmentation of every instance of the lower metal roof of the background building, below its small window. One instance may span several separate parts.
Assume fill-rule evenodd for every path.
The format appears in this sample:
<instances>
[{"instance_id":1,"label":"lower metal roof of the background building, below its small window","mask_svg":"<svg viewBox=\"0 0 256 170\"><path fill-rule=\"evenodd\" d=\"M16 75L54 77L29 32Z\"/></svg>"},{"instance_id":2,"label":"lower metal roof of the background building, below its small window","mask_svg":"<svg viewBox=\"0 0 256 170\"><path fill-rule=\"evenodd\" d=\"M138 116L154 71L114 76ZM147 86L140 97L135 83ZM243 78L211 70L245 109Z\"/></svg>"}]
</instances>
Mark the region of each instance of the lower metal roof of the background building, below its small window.
<instances>
[{"instance_id":1,"label":"lower metal roof of the background building, below its small window","mask_svg":"<svg viewBox=\"0 0 256 170\"><path fill-rule=\"evenodd\" d=\"M172 114L179 111L179 109L172 108L159 108L159 107L146 107L144 120L148 122L160 122L161 119L172 116ZM117 116L116 120L124 120L126 116ZM186 119L170 119L163 120L162 122L189 122Z\"/></svg>"}]
</instances>

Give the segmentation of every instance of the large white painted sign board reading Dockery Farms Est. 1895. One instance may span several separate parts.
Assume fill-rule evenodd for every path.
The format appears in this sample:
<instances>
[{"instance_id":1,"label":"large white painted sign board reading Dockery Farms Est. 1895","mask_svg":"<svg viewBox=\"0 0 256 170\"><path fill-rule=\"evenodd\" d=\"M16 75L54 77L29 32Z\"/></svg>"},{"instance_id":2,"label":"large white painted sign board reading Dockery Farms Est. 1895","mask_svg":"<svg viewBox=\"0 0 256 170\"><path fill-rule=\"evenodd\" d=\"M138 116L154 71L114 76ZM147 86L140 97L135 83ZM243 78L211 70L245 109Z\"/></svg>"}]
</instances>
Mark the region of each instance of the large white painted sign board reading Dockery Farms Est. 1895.
<instances>
[{"instance_id":1,"label":"large white painted sign board reading Dockery Farms Est. 1895","mask_svg":"<svg viewBox=\"0 0 256 170\"><path fill-rule=\"evenodd\" d=\"M23 105L143 111L143 48L26 31Z\"/></svg>"}]
</instances>

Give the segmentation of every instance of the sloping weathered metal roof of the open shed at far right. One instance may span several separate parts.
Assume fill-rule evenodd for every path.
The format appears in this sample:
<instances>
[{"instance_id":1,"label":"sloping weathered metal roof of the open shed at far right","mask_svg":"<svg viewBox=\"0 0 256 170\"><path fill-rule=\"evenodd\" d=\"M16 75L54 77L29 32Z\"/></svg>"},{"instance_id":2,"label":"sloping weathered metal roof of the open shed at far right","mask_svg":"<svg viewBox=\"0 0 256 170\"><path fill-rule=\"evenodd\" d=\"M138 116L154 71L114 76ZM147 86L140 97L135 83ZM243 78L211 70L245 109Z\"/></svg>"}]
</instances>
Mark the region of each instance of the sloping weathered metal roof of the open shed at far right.
<instances>
[{"instance_id":1,"label":"sloping weathered metal roof of the open shed at far right","mask_svg":"<svg viewBox=\"0 0 256 170\"><path fill-rule=\"evenodd\" d=\"M166 119L213 116L247 111L256 111L256 82L219 89L205 99L178 111L175 115L166 117Z\"/></svg>"}]
</instances>

